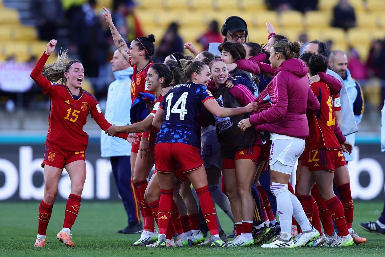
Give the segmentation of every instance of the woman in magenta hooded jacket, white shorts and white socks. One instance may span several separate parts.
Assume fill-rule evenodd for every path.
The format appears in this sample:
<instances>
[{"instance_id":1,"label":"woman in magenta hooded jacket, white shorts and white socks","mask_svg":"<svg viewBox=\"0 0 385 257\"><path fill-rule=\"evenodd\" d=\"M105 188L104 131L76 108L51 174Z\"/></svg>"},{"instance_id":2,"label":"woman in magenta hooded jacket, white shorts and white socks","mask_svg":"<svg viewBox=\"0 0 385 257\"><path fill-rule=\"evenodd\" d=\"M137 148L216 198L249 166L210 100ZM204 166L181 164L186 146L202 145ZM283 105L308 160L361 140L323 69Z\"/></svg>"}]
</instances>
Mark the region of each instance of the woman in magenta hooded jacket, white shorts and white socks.
<instances>
[{"instance_id":1,"label":"woman in magenta hooded jacket, white shorts and white socks","mask_svg":"<svg viewBox=\"0 0 385 257\"><path fill-rule=\"evenodd\" d=\"M314 229L301 203L288 191L291 171L305 148L309 128L305 112L316 113L320 108L313 91L309 88L308 68L296 59L301 44L297 41L276 41L270 49L271 68L276 68L275 77L256 98L259 113L239 123L241 130L251 125L258 131L270 132L270 178L271 191L277 198L281 223L280 238L262 245L263 248L294 247L291 238L291 216L300 224L303 234L299 245L312 242L320 233Z\"/></svg>"}]
</instances>

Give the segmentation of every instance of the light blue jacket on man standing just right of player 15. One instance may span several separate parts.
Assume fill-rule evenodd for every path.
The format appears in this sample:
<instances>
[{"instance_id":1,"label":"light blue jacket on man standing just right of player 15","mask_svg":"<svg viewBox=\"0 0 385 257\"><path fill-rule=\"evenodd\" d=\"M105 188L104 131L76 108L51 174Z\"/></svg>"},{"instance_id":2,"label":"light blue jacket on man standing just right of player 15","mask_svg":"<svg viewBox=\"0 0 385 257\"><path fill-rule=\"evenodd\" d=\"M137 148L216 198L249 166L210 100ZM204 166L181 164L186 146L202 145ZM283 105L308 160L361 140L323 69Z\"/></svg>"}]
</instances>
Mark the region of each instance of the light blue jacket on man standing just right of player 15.
<instances>
[{"instance_id":1,"label":"light blue jacket on man standing just right of player 15","mask_svg":"<svg viewBox=\"0 0 385 257\"><path fill-rule=\"evenodd\" d=\"M129 67L122 71L114 71L116 80L108 87L105 119L117 126L130 124L131 78L134 70ZM102 157L131 156L131 145L118 137L100 135Z\"/></svg>"}]
</instances>

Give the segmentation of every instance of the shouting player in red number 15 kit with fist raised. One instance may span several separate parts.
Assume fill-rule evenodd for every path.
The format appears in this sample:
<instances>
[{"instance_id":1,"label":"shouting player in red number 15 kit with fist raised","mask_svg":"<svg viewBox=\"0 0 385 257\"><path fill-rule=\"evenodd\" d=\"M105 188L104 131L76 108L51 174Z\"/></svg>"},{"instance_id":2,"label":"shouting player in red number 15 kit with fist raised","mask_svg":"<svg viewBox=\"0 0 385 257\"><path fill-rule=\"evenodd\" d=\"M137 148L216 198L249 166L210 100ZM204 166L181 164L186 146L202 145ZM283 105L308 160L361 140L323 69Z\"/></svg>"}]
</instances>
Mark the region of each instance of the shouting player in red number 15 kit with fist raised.
<instances>
[{"instance_id":1,"label":"shouting player in red number 15 kit with fist raised","mask_svg":"<svg viewBox=\"0 0 385 257\"><path fill-rule=\"evenodd\" d=\"M56 63L44 66L49 55L55 50L56 44L55 39L47 44L46 51L31 72L31 78L42 88L43 93L49 95L51 100L49 130L42 163L44 197L39 207L39 226L35 247L45 246L45 234L64 167L70 177L71 193L65 206L63 229L56 238L65 245L74 246L70 230L79 213L86 175L85 150L88 145L88 134L83 131L83 126L87 122L89 113L102 130L111 126L105 120L95 96L81 87L84 68L79 61L67 62L67 51L64 51L60 52ZM42 75L42 72L47 78ZM134 141L133 138L128 137L127 133L120 133L117 136L129 142Z\"/></svg>"}]
</instances>

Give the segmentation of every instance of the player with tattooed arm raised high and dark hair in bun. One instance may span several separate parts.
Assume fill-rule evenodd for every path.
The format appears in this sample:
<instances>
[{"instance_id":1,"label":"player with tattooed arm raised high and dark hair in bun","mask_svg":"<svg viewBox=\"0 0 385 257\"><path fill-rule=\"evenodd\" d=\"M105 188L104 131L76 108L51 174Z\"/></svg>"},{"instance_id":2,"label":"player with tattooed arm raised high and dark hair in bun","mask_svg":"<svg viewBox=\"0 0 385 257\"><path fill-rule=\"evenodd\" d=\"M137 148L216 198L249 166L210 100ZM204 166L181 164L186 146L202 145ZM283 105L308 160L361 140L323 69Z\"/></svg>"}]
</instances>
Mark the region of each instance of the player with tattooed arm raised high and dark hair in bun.
<instances>
[{"instance_id":1,"label":"player with tattooed arm raised high and dark hair in bun","mask_svg":"<svg viewBox=\"0 0 385 257\"><path fill-rule=\"evenodd\" d=\"M138 96L138 93L145 92L145 78L147 76L147 71L154 64L150 61L150 56L154 54L154 44L155 37L154 35L149 35L148 37L139 37L131 42L131 45L128 47L123 37L117 31L114 23L112 22L110 12L103 7L106 13L103 13L103 17L106 23L109 25L112 37L115 42L115 46L122 54L124 59L129 61L131 66L134 68L134 75L132 76L131 83L131 100L134 102L135 98ZM138 196L138 204L142 213L142 217L147 217L144 220L144 227L147 230L155 230L154 220L151 215L151 208L144 199L144 193L146 191L148 182L147 177L153 167L154 154L149 151L149 142L146 140L155 140L155 135L153 132L145 131L143 133L137 133L138 138L140 139L140 144L134 144L131 149L131 171L132 171L132 183L136 190ZM141 140L144 138L144 140ZM140 150L140 154L138 152ZM143 153L146 154L146 158L142 158ZM147 154L148 153L148 154ZM146 211L146 213L144 213ZM147 222L149 224L147 224Z\"/></svg>"}]
</instances>

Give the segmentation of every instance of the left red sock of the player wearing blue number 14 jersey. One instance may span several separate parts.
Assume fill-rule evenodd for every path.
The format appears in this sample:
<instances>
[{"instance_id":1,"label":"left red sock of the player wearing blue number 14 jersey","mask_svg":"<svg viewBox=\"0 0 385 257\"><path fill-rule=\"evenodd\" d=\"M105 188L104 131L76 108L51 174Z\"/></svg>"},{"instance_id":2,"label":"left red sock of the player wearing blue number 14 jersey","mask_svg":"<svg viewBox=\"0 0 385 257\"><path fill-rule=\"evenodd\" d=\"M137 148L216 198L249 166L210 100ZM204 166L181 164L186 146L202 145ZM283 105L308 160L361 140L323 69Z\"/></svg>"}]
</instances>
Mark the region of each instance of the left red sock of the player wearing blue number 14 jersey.
<instances>
[{"instance_id":1,"label":"left red sock of the player wearing blue number 14 jersey","mask_svg":"<svg viewBox=\"0 0 385 257\"><path fill-rule=\"evenodd\" d=\"M159 214L158 214L159 234L166 235L169 219L171 216L171 201L172 201L173 194L174 194L174 189L171 189L171 190L161 189L161 200L159 201Z\"/></svg>"}]
</instances>

